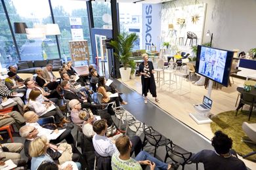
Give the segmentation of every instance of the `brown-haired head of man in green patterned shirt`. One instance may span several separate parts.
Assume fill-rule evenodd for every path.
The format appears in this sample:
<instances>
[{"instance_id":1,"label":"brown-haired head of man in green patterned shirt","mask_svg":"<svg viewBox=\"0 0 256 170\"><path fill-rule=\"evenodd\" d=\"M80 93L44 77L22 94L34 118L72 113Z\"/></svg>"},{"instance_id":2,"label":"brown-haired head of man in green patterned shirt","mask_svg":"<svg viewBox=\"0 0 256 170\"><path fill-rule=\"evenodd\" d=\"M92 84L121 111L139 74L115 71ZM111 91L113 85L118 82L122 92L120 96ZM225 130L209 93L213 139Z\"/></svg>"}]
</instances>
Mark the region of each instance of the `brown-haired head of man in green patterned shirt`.
<instances>
[{"instance_id":1,"label":"brown-haired head of man in green patterned shirt","mask_svg":"<svg viewBox=\"0 0 256 170\"><path fill-rule=\"evenodd\" d=\"M130 153L131 150L131 142L127 135L123 135L116 139L116 148L121 155L126 154L127 152Z\"/></svg>"}]
</instances>

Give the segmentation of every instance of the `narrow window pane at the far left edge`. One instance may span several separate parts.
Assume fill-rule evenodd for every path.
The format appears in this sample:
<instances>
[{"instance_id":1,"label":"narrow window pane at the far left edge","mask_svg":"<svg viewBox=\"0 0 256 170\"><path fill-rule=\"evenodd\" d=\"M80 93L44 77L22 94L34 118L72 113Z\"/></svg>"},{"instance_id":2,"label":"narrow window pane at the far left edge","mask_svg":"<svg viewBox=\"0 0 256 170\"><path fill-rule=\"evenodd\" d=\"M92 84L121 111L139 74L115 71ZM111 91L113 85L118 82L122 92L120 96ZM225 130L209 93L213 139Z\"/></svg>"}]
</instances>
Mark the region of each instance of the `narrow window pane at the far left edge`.
<instances>
[{"instance_id":1,"label":"narrow window pane at the far left edge","mask_svg":"<svg viewBox=\"0 0 256 170\"><path fill-rule=\"evenodd\" d=\"M5 4L7 9L16 12L15 8L11 3L7 1ZM3 9L3 4L0 3L0 69L1 67L7 67L11 63L16 63L18 61L18 55L14 46L9 24L7 22L7 17L5 16L5 10Z\"/></svg>"}]
</instances>

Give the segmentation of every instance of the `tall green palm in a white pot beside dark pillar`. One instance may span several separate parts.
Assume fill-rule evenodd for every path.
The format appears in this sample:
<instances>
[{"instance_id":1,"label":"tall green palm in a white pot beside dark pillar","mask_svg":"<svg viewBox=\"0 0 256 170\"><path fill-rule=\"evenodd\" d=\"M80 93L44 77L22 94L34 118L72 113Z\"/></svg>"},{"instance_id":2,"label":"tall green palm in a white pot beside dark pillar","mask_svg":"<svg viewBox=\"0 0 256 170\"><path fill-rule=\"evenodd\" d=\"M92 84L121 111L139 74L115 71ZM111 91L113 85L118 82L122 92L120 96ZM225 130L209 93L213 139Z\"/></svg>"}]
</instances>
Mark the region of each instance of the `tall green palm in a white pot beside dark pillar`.
<instances>
[{"instance_id":1,"label":"tall green palm in a white pot beside dark pillar","mask_svg":"<svg viewBox=\"0 0 256 170\"><path fill-rule=\"evenodd\" d=\"M120 63L123 65L119 69L121 74L121 79L123 81L128 81L131 75L131 56L133 50L133 42L138 39L136 33L121 33L117 36L116 41L110 41L110 45L113 46L116 50L114 56L119 58Z\"/></svg>"}]
</instances>

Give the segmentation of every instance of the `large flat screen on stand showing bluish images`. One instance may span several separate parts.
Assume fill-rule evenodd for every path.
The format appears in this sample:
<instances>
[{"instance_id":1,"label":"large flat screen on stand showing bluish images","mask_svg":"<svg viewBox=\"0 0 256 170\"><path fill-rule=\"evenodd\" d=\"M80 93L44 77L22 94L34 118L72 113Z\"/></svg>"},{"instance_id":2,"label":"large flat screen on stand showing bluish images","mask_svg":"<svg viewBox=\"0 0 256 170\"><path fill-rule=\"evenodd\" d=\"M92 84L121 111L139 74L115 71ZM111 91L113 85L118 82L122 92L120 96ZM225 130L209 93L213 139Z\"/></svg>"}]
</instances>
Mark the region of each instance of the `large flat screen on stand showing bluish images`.
<instances>
[{"instance_id":1,"label":"large flat screen on stand showing bluish images","mask_svg":"<svg viewBox=\"0 0 256 170\"><path fill-rule=\"evenodd\" d=\"M228 86L234 52L198 45L196 73Z\"/></svg>"}]
</instances>

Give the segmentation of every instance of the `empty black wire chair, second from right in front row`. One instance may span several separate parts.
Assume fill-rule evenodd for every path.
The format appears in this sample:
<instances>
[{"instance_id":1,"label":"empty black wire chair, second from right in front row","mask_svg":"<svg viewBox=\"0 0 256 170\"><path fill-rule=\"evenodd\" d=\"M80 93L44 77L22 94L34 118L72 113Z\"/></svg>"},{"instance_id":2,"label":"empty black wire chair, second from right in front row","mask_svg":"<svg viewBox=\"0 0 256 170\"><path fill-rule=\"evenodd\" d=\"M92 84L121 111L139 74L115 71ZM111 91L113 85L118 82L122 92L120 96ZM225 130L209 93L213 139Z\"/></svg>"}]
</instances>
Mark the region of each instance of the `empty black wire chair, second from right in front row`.
<instances>
[{"instance_id":1,"label":"empty black wire chair, second from right in front row","mask_svg":"<svg viewBox=\"0 0 256 170\"><path fill-rule=\"evenodd\" d=\"M145 123L142 125L142 129L144 132L144 140L142 144L142 150L143 147L146 145L146 141L150 143L152 146L155 146L154 150L154 157L156 157L156 149L159 146L165 146L165 137L161 135L158 131L154 130L151 126L146 126Z\"/></svg>"}]
</instances>

